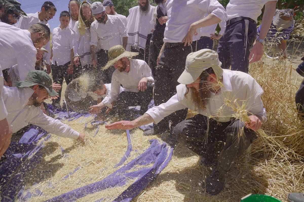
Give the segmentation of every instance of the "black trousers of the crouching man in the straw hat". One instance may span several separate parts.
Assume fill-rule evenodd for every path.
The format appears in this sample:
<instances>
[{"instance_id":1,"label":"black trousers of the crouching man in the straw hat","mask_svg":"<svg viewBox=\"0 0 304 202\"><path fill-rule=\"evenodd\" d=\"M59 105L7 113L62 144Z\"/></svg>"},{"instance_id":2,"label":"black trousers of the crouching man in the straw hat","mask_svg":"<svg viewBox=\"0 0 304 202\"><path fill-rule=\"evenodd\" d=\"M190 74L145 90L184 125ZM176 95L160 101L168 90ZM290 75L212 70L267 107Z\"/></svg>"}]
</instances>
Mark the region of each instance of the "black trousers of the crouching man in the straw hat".
<instances>
[{"instance_id":1,"label":"black trousers of the crouching man in the straw hat","mask_svg":"<svg viewBox=\"0 0 304 202\"><path fill-rule=\"evenodd\" d=\"M123 118L132 116L134 113L128 109L129 106L140 106L140 114L144 114L148 110L149 103L153 97L153 86L150 82L147 83L145 91L128 92L123 91L114 101L118 115Z\"/></svg>"}]
</instances>

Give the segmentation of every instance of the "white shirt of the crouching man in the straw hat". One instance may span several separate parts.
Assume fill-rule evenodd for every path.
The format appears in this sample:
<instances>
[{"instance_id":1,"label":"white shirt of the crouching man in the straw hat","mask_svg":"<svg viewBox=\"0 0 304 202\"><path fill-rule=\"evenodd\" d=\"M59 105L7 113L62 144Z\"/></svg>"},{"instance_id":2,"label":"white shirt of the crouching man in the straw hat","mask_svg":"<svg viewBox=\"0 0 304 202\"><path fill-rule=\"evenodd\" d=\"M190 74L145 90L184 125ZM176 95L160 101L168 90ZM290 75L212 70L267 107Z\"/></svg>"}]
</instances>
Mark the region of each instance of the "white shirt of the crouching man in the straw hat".
<instances>
[{"instance_id":1,"label":"white shirt of the crouching man in the straw hat","mask_svg":"<svg viewBox=\"0 0 304 202\"><path fill-rule=\"evenodd\" d=\"M138 83L143 77L147 77L151 80L152 83L155 82L154 78L152 77L151 69L145 61L130 59L129 72L119 72L118 69L113 72L111 80L111 91L102 100L102 103L105 104L105 106L112 108L111 103L119 95L120 84L123 86L124 91L138 93Z\"/></svg>"}]
</instances>

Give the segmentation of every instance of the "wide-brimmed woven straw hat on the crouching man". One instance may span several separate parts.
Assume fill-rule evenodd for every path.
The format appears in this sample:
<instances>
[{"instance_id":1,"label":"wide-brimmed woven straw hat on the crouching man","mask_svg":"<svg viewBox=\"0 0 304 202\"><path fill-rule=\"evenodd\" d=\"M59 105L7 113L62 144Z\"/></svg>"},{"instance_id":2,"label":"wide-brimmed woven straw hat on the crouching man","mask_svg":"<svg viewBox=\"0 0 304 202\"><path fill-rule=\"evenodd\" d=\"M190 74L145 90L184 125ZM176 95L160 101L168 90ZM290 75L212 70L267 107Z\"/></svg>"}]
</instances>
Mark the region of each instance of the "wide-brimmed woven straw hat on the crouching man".
<instances>
[{"instance_id":1,"label":"wide-brimmed woven straw hat on the crouching man","mask_svg":"<svg viewBox=\"0 0 304 202\"><path fill-rule=\"evenodd\" d=\"M131 59L133 56L137 56L138 52L130 52L126 51L122 45L115 45L108 51L109 62L102 68L102 70L108 69L112 66L115 62L122 58Z\"/></svg>"}]
</instances>

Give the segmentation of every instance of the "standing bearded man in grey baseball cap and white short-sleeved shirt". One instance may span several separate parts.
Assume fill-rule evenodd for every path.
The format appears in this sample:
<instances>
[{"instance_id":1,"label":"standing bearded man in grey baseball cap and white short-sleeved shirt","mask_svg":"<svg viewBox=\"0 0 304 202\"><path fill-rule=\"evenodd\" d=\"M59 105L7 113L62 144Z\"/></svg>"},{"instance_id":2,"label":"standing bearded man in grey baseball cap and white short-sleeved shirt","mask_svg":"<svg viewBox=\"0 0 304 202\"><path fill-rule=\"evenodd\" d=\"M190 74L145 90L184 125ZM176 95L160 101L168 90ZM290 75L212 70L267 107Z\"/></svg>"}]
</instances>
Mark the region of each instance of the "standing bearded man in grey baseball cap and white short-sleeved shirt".
<instances>
[{"instance_id":1,"label":"standing bearded man in grey baseball cap and white short-sleeved shirt","mask_svg":"<svg viewBox=\"0 0 304 202\"><path fill-rule=\"evenodd\" d=\"M108 50L115 45L122 45L126 48L128 34L123 21L115 15L107 15L101 2L94 2L91 5L92 15L95 21L91 24L91 52L92 65L99 70L100 79L105 82L111 82L114 68L100 71L108 62ZM95 58L98 46L97 61Z\"/></svg>"}]
</instances>

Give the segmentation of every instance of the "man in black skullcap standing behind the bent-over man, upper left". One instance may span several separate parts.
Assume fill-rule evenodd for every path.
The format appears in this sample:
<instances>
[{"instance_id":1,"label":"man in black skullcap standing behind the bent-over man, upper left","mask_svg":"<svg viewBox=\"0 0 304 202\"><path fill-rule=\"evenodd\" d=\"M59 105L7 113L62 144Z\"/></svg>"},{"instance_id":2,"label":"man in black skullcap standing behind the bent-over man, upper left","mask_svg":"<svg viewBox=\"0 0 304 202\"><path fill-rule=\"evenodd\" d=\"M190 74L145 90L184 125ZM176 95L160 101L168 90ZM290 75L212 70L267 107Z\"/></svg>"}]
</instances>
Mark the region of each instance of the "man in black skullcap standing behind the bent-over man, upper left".
<instances>
[{"instance_id":1,"label":"man in black skullcap standing behind the bent-over man, upper left","mask_svg":"<svg viewBox=\"0 0 304 202\"><path fill-rule=\"evenodd\" d=\"M39 12L27 14L28 18L21 17L18 21L17 27L20 29L29 29L31 25L34 25L36 23L42 23L47 25L48 28L50 28L48 21L50 19L53 19L54 15L56 14L56 11L57 9L52 2L44 2ZM45 45L45 49L50 52L51 49L49 42ZM47 73L51 73L50 60L48 59L49 57L50 55L44 53L43 58L46 61Z\"/></svg>"}]
</instances>

